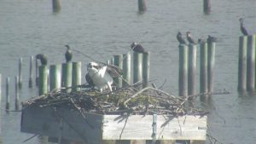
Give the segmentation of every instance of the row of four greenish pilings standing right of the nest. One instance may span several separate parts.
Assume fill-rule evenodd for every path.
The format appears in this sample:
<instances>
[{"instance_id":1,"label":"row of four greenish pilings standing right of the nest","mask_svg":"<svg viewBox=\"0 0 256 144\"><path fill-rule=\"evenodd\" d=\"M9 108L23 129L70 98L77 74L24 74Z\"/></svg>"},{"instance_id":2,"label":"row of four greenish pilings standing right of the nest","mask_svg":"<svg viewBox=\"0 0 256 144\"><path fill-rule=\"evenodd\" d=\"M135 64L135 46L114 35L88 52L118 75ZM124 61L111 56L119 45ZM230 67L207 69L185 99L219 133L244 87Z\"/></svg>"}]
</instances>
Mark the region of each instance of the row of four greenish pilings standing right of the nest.
<instances>
[{"instance_id":1,"label":"row of four greenish pilings standing right of the nest","mask_svg":"<svg viewBox=\"0 0 256 144\"><path fill-rule=\"evenodd\" d=\"M200 43L200 93L210 94L213 90L215 43ZM196 95L196 44L180 44L178 95Z\"/></svg>"}]
</instances>

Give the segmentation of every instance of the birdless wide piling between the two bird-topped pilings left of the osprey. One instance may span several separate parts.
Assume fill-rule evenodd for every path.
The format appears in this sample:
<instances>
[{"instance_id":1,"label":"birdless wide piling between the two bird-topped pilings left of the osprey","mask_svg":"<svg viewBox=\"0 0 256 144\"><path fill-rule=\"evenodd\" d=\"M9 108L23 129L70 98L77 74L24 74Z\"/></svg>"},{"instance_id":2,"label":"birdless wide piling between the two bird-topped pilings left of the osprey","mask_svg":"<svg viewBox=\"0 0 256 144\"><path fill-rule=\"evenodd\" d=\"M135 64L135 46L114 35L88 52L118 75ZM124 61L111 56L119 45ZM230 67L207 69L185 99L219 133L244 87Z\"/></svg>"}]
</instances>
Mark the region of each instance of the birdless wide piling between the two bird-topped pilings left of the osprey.
<instances>
[{"instance_id":1,"label":"birdless wide piling between the two bird-topped pilings left of the osprey","mask_svg":"<svg viewBox=\"0 0 256 144\"><path fill-rule=\"evenodd\" d=\"M49 91L57 89L61 89L61 65L51 65L49 66Z\"/></svg>"}]
</instances>

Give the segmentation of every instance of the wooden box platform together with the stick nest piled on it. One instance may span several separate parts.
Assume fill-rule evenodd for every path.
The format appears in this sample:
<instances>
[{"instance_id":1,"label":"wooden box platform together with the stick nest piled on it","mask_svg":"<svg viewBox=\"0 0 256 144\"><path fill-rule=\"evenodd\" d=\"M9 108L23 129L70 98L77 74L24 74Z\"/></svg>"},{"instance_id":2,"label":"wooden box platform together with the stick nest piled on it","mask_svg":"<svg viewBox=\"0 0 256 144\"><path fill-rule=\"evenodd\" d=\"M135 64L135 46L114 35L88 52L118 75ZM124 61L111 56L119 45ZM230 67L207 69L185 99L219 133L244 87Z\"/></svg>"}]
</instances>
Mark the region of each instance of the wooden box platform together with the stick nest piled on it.
<instances>
[{"instance_id":1,"label":"wooden box platform together with the stick nest piled on it","mask_svg":"<svg viewBox=\"0 0 256 144\"><path fill-rule=\"evenodd\" d=\"M122 91L122 100L111 99L117 96L115 92L108 93L107 100L88 94L59 92L24 102L21 132L90 144L105 140L206 140L207 112L187 107L185 99L153 88L133 95L129 90L129 96L128 91Z\"/></svg>"}]
</instances>

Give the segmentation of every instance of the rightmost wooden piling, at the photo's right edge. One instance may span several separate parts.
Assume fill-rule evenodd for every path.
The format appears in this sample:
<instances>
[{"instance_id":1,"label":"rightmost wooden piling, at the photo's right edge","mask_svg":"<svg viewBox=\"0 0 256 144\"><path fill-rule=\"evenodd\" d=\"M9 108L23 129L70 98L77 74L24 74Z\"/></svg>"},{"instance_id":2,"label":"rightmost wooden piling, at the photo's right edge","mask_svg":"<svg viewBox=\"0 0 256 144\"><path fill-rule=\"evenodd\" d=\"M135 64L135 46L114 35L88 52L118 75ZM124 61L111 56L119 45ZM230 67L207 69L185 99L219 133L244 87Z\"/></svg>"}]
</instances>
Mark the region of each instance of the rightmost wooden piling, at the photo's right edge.
<instances>
[{"instance_id":1,"label":"rightmost wooden piling, at the photo's right edge","mask_svg":"<svg viewBox=\"0 0 256 144\"><path fill-rule=\"evenodd\" d=\"M253 92L255 85L255 35L247 40L247 91Z\"/></svg>"}]
</instances>

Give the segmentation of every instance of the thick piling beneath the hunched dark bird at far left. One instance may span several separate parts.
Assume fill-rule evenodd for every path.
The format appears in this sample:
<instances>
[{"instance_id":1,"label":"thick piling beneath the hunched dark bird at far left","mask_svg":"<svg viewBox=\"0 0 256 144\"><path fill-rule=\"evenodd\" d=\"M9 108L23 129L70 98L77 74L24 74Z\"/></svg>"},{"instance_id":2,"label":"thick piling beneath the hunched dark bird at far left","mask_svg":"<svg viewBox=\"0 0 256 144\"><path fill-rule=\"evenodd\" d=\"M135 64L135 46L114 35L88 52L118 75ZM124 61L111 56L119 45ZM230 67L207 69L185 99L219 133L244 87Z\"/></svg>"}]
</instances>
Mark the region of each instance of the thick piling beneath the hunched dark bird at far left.
<instances>
[{"instance_id":1,"label":"thick piling beneath the hunched dark bird at far left","mask_svg":"<svg viewBox=\"0 0 256 144\"><path fill-rule=\"evenodd\" d=\"M38 66L38 95L48 93L48 68L47 66Z\"/></svg>"}]
</instances>

